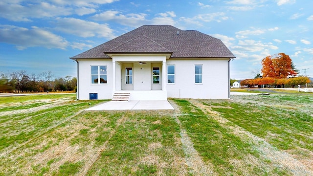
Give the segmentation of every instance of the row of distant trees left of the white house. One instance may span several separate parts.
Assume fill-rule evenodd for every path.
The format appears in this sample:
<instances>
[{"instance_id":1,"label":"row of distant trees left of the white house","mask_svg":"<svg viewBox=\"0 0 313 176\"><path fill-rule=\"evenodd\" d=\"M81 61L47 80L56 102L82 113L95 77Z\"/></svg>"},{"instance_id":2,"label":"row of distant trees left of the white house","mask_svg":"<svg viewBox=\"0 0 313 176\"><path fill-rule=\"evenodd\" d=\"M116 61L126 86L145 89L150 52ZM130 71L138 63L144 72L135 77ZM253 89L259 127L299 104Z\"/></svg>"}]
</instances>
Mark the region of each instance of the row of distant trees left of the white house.
<instances>
[{"instance_id":1,"label":"row of distant trees left of the white house","mask_svg":"<svg viewBox=\"0 0 313 176\"><path fill-rule=\"evenodd\" d=\"M14 92L47 92L74 91L77 79L71 76L54 78L51 71L44 71L38 75L27 74L25 70L13 71L9 74L0 72L0 93Z\"/></svg>"}]
</instances>

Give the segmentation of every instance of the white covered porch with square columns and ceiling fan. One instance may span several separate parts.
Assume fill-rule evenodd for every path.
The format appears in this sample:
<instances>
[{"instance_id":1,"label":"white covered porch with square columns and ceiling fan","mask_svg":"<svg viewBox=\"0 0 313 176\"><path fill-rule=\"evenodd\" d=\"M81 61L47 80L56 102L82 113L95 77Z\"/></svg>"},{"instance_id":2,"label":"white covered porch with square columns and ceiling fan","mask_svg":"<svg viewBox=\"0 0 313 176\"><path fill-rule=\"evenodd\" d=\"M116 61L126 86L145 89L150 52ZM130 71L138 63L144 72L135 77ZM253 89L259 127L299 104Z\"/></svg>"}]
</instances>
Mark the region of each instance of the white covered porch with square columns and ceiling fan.
<instances>
[{"instance_id":1,"label":"white covered porch with square columns and ceiling fan","mask_svg":"<svg viewBox=\"0 0 313 176\"><path fill-rule=\"evenodd\" d=\"M128 100L167 100L168 54L112 54L112 97L128 93Z\"/></svg>"}]
</instances>

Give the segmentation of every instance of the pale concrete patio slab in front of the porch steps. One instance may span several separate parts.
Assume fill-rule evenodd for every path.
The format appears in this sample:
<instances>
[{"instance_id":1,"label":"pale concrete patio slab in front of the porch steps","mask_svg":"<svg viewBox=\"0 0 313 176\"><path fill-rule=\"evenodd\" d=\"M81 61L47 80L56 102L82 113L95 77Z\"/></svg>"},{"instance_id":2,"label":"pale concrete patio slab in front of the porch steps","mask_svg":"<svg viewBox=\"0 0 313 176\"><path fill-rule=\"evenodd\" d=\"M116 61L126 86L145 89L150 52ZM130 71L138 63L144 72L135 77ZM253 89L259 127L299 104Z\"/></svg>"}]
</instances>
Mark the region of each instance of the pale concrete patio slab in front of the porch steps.
<instances>
[{"instance_id":1,"label":"pale concrete patio slab in front of the porch steps","mask_svg":"<svg viewBox=\"0 0 313 176\"><path fill-rule=\"evenodd\" d=\"M87 110L174 110L167 100L155 101L109 101Z\"/></svg>"}]
</instances>

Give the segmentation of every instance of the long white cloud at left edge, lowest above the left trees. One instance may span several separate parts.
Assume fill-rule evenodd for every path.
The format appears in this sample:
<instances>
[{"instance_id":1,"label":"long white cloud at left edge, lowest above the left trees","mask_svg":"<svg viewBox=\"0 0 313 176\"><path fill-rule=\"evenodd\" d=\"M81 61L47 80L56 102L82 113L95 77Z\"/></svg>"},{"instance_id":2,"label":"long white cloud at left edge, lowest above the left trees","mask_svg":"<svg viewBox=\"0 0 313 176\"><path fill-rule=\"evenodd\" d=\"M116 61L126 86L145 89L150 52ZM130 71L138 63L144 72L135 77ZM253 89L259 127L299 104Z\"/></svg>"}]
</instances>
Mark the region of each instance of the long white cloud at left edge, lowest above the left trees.
<instances>
[{"instance_id":1,"label":"long white cloud at left edge, lowest above the left trees","mask_svg":"<svg viewBox=\"0 0 313 176\"><path fill-rule=\"evenodd\" d=\"M61 36L33 26L31 29L13 25L0 25L0 42L14 44L19 50L27 47L66 49L68 42Z\"/></svg>"}]
</instances>

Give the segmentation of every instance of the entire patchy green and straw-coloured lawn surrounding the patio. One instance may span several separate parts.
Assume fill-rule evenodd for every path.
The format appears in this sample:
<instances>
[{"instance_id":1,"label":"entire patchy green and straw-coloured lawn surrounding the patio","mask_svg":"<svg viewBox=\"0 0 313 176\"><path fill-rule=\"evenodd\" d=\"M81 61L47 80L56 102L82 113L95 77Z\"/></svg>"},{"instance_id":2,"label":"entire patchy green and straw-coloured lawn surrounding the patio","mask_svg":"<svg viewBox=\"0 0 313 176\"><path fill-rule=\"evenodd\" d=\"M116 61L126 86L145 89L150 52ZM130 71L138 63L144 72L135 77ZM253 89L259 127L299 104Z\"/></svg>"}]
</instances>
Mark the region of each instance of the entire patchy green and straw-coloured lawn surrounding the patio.
<instances>
[{"instance_id":1,"label":"entire patchy green and straw-coloured lawn surrounding the patio","mask_svg":"<svg viewBox=\"0 0 313 176\"><path fill-rule=\"evenodd\" d=\"M85 111L102 102L0 97L0 176L313 175L312 94Z\"/></svg>"}]
</instances>

